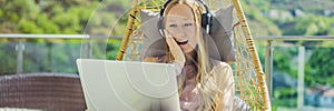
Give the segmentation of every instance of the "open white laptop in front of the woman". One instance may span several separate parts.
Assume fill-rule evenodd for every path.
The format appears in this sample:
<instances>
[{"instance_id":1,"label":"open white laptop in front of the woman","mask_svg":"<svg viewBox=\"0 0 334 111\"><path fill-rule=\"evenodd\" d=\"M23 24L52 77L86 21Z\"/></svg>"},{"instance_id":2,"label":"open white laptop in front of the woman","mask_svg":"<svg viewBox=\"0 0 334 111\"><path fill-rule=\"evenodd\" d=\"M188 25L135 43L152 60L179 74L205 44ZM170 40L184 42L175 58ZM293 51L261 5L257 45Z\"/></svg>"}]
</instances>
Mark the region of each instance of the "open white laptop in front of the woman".
<instances>
[{"instance_id":1,"label":"open white laptop in front of the woman","mask_svg":"<svg viewBox=\"0 0 334 111\"><path fill-rule=\"evenodd\" d=\"M78 59L88 111L179 111L176 72L166 63Z\"/></svg>"}]
</instances>

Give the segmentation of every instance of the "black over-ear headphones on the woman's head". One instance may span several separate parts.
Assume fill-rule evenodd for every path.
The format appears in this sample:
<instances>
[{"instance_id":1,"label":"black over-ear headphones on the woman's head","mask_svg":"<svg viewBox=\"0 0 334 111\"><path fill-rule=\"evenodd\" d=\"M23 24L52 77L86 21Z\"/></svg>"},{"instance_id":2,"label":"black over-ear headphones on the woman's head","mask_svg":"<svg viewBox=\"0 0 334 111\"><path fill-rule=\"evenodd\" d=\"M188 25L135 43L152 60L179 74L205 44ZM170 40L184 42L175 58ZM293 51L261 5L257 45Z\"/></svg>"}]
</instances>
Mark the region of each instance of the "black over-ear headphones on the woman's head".
<instances>
[{"instance_id":1,"label":"black over-ear headphones on the woman's head","mask_svg":"<svg viewBox=\"0 0 334 111\"><path fill-rule=\"evenodd\" d=\"M158 29L159 29L159 33L165 37L164 33L164 29L165 29L165 24L164 24L164 14L165 14L165 8L170 3L170 1L173 0L168 0L164 7L160 10L160 14L159 14L159 21L158 21ZM204 29L203 32L209 34L210 33L210 26L212 26L212 21L213 21L213 14L209 11L209 8L207 7L206 3L204 3L203 0L198 0L205 8L206 12L202 13L202 28Z\"/></svg>"}]
</instances>

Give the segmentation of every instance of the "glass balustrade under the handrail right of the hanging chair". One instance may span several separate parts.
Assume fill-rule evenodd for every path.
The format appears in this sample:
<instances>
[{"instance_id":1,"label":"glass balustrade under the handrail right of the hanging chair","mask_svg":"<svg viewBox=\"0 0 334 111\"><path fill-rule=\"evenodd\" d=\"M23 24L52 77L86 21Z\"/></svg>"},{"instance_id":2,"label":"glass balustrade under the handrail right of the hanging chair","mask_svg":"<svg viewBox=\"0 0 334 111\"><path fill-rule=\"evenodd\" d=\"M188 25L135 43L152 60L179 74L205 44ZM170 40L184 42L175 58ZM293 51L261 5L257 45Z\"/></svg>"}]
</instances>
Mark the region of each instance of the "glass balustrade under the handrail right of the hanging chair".
<instances>
[{"instance_id":1,"label":"glass balustrade under the handrail right of the hanging chair","mask_svg":"<svg viewBox=\"0 0 334 111\"><path fill-rule=\"evenodd\" d=\"M273 110L334 110L334 46L330 46L330 41L273 42ZM257 40L256 43L265 69L266 42ZM306 46L302 56L303 88L298 87L301 44ZM298 89L302 89L302 93L298 93ZM303 95L299 99L302 101L298 101L298 95ZM302 104L299 109L298 102Z\"/></svg>"}]
</instances>

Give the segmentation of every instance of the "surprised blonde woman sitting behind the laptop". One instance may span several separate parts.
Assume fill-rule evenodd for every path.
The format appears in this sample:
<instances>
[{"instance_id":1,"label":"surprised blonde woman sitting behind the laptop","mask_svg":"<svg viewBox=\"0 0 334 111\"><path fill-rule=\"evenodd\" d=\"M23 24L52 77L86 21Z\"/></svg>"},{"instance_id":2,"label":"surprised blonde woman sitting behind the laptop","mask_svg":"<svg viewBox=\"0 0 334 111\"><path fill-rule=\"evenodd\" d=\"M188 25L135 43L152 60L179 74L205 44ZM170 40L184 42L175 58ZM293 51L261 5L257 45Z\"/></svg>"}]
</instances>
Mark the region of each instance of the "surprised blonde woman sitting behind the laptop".
<instances>
[{"instance_id":1,"label":"surprised blonde woman sitting behind the laptop","mask_svg":"<svg viewBox=\"0 0 334 111\"><path fill-rule=\"evenodd\" d=\"M146 62L174 63L178 73L180 109L186 111L233 110L234 79L230 67L209 59L203 38L203 6L197 0L171 0L165 6L164 34L167 56L147 57Z\"/></svg>"}]
</instances>

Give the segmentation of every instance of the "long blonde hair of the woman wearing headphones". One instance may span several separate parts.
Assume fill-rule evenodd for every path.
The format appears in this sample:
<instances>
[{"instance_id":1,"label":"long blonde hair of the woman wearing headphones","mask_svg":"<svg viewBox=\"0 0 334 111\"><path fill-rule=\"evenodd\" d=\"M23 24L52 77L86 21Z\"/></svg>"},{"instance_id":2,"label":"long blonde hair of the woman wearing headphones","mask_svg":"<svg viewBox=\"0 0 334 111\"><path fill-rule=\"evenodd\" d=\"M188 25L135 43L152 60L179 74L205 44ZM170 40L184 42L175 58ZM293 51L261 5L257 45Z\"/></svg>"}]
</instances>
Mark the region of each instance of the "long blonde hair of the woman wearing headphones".
<instances>
[{"instance_id":1,"label":"long blonde hair of the woman wearing headphones","mask_svg":"<svg viewBox=\"0 0 334 111\"><path fill-rule=\"evenodd\" d=\"M196 40L197 40L197 77L196 77L196 88L199 91L200 101L198 110L203 111L216 111L222 110L222 91L219 90L220 85L223 85L217 81L217 75L212 72L213 65L209 62L208 56L208 37L203 38L202 31L202 13L204 8L202 3L197 0L171 0L168 6L166 6L165 11L168 14L169 10L176 4L186 4L188 6L193 13L196 27ZM168 48L167 48L168 49ZM173 61L174 58L170 54L169 50L167 50L168 59ZM183 87L185 83L185 74L180 74L178 77L178 92L179 94L183 91Z\"/></svg>"}]
</instances>

